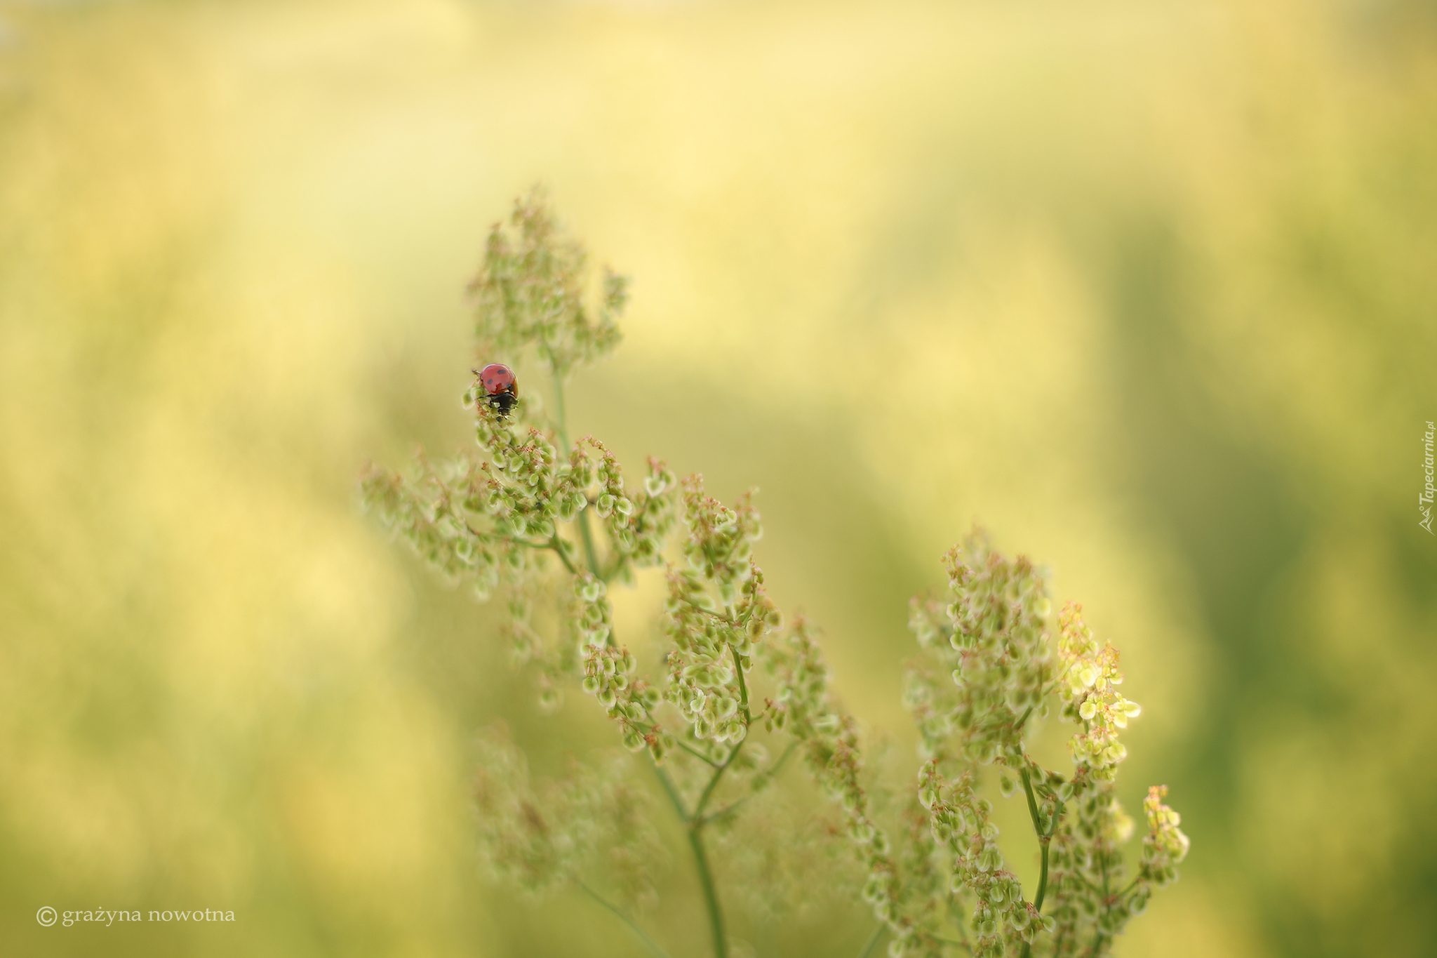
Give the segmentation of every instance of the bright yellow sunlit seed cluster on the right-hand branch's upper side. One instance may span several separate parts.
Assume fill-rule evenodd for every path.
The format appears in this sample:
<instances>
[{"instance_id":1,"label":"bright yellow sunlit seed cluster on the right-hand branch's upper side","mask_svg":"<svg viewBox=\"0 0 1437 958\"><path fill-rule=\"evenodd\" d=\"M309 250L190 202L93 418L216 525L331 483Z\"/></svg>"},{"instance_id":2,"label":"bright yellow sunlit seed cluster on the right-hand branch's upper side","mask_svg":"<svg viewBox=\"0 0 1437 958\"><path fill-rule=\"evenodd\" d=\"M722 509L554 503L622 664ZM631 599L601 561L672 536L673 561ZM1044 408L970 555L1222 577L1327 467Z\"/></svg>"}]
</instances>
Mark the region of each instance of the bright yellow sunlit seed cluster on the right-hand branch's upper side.
<instances>
[{"instance_id":1,"label":"bright yellow sunlit seed cluster on the right-hand branch's upper side","mask_svg":"<svg viewBox=\"0 0 1437 958\"><path fill-rule=\"evenodd\" d=\"M1058 655L1063 664L1058 684L1062 717L1082 725L1069 740L1068 750L1095 778L1112 778L1128 754L1127 745L1118 741L1118 731L1142 710L1118 694L1117 687L1122 684L1118 651L1106 642L1098 648L1092 631L1083 625L1082 606L1075 602L1063 606L1058 626Z\"/></svg>"}]
</instances>

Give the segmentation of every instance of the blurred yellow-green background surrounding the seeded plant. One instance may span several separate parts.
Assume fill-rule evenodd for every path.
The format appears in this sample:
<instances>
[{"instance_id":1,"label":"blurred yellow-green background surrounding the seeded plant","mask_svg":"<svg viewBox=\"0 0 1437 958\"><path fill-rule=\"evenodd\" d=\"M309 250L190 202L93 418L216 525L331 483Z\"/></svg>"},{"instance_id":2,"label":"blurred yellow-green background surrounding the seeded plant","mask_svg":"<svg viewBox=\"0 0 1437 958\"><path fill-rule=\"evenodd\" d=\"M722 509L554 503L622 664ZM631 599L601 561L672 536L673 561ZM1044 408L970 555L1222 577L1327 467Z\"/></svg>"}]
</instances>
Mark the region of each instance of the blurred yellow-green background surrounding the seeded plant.
<instances>
[{"instance_id":1,"label":"blurred yellow-green background surrounding the seeded plant","mask_svg":"<svg viewBox=\"0 0 1437 958\"><path fill-rule=\"evenodd\" d=\"M762 488L901 767L979 518L1193 837L1119 955L1437 954L1434 55L1418 0L0 4L0 952L635 954L473 857L474 731L602 725L356 501L468 441L463 286L543 181L635 277L575 431Z\"/></svg>"}]
</instances>

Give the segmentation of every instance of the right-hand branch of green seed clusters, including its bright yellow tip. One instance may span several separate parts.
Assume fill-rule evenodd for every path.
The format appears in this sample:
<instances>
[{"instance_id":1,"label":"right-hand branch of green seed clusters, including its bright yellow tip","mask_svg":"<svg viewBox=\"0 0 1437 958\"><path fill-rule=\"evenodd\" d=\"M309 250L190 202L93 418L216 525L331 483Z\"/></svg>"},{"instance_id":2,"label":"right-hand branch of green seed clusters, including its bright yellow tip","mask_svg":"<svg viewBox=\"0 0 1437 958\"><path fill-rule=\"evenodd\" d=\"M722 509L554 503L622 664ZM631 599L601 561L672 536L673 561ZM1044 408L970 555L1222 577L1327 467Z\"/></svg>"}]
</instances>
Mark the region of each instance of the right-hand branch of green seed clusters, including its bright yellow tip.
<instances>
[{"instance_id":1,"label":"right-hand branch of green seed clusters, including its bright yellow tip","mask_svg":"<svg viewBox=\"0 0 1437 958\"><path fill-rule=\"evenodd\" d=\"M1059 616L1055 662L1045 575L1026 559L1003 559L981 533L950 552L946 564L951 600L918 597L911 605L923 655L905 689L930 755L918 800L928 810L935 853L951 868L946 903L953 908L957 898L973 895L967 929L974 938L964 947L974 955L1101 955L1141 912L1157 875L1174 876L1170 866L1186 852L1186 837L1155 830L1144 843L1138 878L1122 885L1121 846L1132 820L1114 791L1125 755L1117 735L1138 707L1117 692L1118 654L1106 643L1099 648L1078 606L1069 605ZM951 684L941 676L950 669ZM1029 720L1048 712L1050 695L1061 717L1081 725L1071 743L1069 777L1043 768L1025 745ZM999 794L1012 797L1022 784L1039 842L1039 885L1030 902L1003 870L997 827L987 817L992 806L976 797L980 767L994 761ZM951 786L944 784L944 767L953 768ZM1154 822L1175 829L1175 814L1168 814Z\"/></svg>"}]
</instances>

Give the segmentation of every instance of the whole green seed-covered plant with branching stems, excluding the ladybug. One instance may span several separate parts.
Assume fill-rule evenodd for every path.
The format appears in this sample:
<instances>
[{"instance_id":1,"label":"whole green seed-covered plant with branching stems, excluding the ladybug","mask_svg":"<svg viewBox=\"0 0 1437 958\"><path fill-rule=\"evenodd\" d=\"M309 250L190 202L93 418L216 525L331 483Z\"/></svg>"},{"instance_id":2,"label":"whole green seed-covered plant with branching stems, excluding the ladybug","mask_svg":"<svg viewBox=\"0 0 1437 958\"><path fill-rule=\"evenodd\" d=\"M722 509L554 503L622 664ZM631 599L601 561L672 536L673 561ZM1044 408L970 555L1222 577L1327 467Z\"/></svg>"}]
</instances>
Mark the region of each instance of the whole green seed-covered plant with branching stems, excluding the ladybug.
<instances>
[{"instance_id":1,"label":"whole green seed-covered plant with branching stems, excluding the ladybug","mask_svg":"<svg viewBox=\"0 0 1437 958\"><path fill-rule=\"evenodd\" d=\"M1114 778L1125 755L1119 731L1138 707L1118 694L1117 651L1094 639L1076 605L1058 615L1055 648L1043 569L1006 559L974 531L946 556L947 593L914 599L920 652L905 702L925 760L911 794L881 800L859 725L829 691L818 629L785 625L764 593L752 497L724 506L701 477L678 480L658 460L629 484L602 442L569 441L566 379L616 345L624 280L606 274L591 306L583 250L535 194L516 204L512 230L494 227L471 292L480 355L536 359L552 378L553 415L530 389L504 415L476 385L464 399L477 450L444 464L421 457L412 475L371 468L365 500L444 575L480 599L507 600L504 632L514 656L536 665L543 705L579 687L624 747L645 755L683 824L716 958L730 944L711 839L783 790L775 784L795 754L836 804L839 827L826 833L858 866L832 859L831 868L861 885L877 918L862 955L885 935L895 957L1101 955L1151 889L1177 878L1188 840L1163 804L1165 789L1154 787L1141 862L1124 880L1119 846L1134 827ZM641 669L621 643L608 597L648 569L667 582L657 669ZM1025 748L1032 720L1053 707L1076 725L1068 774ZM503 731L489 735L480 766L490 866L532 890L582 889L662 955L593 888L604 873L609 895L652 898L645 862L658 837L632 770L621 760L573 763L535 784ZM1003 868L983 797L994 778L1002 796L1022 789L1027 804L1040 847L1032 899Z\"/></svg>"}]
</instances>

